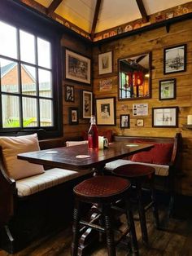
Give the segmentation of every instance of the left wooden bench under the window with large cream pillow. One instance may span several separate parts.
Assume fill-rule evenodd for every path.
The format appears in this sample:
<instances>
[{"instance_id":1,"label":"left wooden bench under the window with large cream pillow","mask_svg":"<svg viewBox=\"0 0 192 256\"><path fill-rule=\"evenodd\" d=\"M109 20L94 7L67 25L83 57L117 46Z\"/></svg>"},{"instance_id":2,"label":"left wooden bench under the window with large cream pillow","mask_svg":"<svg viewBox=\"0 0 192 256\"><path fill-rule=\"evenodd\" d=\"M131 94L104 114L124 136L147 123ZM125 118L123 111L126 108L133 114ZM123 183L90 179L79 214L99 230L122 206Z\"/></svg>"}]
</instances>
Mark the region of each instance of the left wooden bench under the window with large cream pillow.
<instances>
[{"instance_id":1,"label":"left wooden bench under the window with large cream pillow","mask_svg":"<svg viewBox=\"0 0 192 256\"><path fill-rule=\"evenodd\" d=\"M59 168L45 170L17 159L20 152L65 145L63 138L38 142L37 135L0 137L0 245L9 253L34 239L65 227L72 218L72 188L90 170L77 172Z\"/></svg>"}]
</instances>

